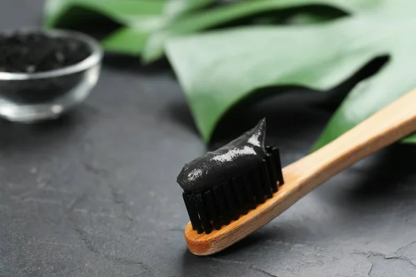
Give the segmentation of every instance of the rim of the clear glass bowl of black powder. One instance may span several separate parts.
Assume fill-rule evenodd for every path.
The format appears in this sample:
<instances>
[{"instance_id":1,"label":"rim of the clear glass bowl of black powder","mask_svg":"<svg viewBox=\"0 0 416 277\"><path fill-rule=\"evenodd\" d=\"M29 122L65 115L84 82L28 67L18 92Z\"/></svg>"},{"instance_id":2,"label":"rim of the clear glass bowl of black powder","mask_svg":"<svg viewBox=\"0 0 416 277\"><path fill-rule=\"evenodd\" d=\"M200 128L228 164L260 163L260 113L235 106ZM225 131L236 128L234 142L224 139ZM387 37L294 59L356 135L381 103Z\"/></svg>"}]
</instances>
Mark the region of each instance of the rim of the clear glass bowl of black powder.
<instances>
[{"instance_id":1,"label":"rim of the clear glass bowl of black powder","mask_svg":"<svg viewBox=\"0 0 416 277\"><path fill-rule=\"evenodd\" d=\"M15 30L6 30L1 33L43 33L49 37L71 37L77 39L80 42L83 42L89 46L91 49L91 54L86 57L84 60L77 62L76 64L71 64L69 66L64 66L60 69L53 69L50 71L42 71L36 73L13 73L13 72L4 72L0 71L0 80L37 80L45 78L55 78L64 75L70 75L73 73L79 73L87 69L92 68L96 64L99 64L103 60L103 48L101 45L89 35L80 33L74 30L64 30L64 29L44 29L44 28L19 28Z\"/></svg>"}]
</instances>

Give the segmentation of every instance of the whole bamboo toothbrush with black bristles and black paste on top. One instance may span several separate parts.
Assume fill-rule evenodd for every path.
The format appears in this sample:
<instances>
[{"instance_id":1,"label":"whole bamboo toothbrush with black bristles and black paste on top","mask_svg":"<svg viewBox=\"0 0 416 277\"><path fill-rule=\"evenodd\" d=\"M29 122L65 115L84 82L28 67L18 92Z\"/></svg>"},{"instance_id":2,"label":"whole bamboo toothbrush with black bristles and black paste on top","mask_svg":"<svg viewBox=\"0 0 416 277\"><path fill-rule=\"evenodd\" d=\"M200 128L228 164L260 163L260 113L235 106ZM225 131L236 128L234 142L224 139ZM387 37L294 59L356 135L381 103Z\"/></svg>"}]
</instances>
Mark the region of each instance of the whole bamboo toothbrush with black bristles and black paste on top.
<instances>
[{"instance_id":1,"label":"whole bamboo toothbrush with black bristles and black paste on top","mask_svg":"<svg viewBox=\"0 0 416 277\"><path fill-rule=\"evenodd\" d=\"M248 140L245 140L246 142L256 138L256 136L259 139L261 134L254 131L250 134L246 133L251 135ZM270 153L263 153L266 156L264 156L262 164L266 167L266 170L268 169L266 176L271 176L269 179L278 183L279 190L277 191L273 190L274 184L271 186L272 193L270 193L270 189L265 189L266 187L263 185L254 184L255 182L261 183L261 180L265 180L264 176L263 179L261 179L261 176L256 179L252 177L254 175L250 175L251 177L249 178L253 183L253 190L243 189L248 188L247 182L243 186L238 181L244 181L244 178L236 179L234 177L229 181L221 182L221 184L215 184L216 179L214 184L211 182L210 185L200 182L197 188L190 188L190 184L185 184L185 186L182 186L182 184L181 186L185 190L185 204L187 204L192 222L189 222L184 231L189 250L196 255L206 256L231 246L270 222L270 220L277 217L289 206L295 204L297 200L341 170L415 131L416 89L381 109L381 111L367 118L367 120L335 141L283 168L283 186L281 186L283 180L277 176L281 169L275 168L275 172L271 172L270 163L264 162L268 157L270 158ZM240 144L238 139L236 141L237 143L234 141L234 144L231 143L231 145L227 145L226 148L220 151L219 156L215 153L213 154L213 152L207 154L211 155L209 157L212 160L225 163L231 159L229 157L235 159L241 153L243 153L241 154L243 157L244 154L248 154L248 156L244 157L246 159L247 157L255 157L254 152L256 154L261 152L261 148L258 148L258 146L262 146L259 145L261 139L259 141L251 141L252 144L247 143L244 146L241 145L241 139ZM272 163L272 165L279 167L278 153L277 158L275 155L275 163ZM190 166L189 164L185 166L181 174L189 172ZM261 166L257 166L257 168L259 167ZM200 168L193 168L193 171L189 172L189 177L192 178L187 181L198 180L198 177L203 175L204 169L210 169L209 164L207 166L206 162ZM218 172L218 168L215 169ZM248 174L246 171L244 168L240 169L242 175ZM264 171L265 169L263 168ZM232 174L235 175L235 172L232 172ZM209 176L212 177L214 175ZM258 175L255 176L258 177ZM180 177L178 177L178 182L180 182ZM263 191L263 196L259 197L258 191L256 192L257 188ZM239 190L244 190L244 193L239 193ZM273 193L273 191L275 192ZM251 196L250 193L252 193ZM245 202L239 201L242 199L241 195L245 197L243 199ZM249 195L248 198L247 195ZM250 204L250 201L253 199L257 199L255 205ZM261 204L261 202L263 203ZM247 204L247 206L244 206L245 204L243 205L242 203ZM210 224L213 230L211 230Z\"/></svg>"}]
</instances>

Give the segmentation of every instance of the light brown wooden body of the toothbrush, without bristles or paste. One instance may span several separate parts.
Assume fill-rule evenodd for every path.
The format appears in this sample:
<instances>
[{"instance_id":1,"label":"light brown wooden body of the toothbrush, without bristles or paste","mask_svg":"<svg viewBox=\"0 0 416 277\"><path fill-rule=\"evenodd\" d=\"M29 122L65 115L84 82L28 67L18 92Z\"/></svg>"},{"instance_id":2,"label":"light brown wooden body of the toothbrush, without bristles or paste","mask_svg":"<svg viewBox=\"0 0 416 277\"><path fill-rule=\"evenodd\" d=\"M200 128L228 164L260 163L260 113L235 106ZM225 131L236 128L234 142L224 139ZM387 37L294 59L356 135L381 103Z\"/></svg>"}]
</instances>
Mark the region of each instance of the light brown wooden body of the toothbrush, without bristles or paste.
<instances>
[{"instance_id":1,"label":"light brown wooden body of the toothbrush, without bristles or paste","mask_svg":"<svg viewBox=\"0 0 416 277\"><path fill-rule=\"evenodd\" d=\"M265 203L209 234L185 229L189 250L210 255L238 242L327 179L356 161L416 131L416 89L399 98L335 141L283 169L285 184Z\"/></svg>"}]
</instances>

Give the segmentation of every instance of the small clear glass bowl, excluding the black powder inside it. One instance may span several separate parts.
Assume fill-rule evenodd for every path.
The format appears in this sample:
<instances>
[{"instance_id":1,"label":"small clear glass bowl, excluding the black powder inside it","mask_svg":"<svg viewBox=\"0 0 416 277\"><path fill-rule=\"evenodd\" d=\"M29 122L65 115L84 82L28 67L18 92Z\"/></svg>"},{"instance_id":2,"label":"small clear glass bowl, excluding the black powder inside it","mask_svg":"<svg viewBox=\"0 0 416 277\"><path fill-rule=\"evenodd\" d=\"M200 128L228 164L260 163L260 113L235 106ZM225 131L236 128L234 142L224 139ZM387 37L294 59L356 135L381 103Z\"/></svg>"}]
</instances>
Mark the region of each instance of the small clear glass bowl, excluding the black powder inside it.
<instances>
[{"instance_id":1,"label":"small clear glass bowl, excluding the black powder inside it","mask_svg":"<svg viewBox=\"0 0 416 277\"><path fill-rule=\"evenodd\" d=\"M96 39L69 30L17 31L76 39L89 48L90 54L81 62L51 71L0 72L0 116L10 121L33 123L58 118L83 102L100 75L103 50Z\"/></svg>"}]
</instances>

